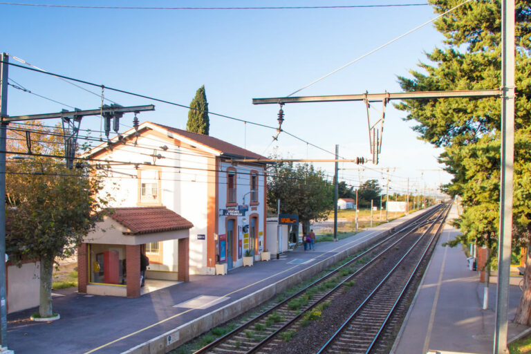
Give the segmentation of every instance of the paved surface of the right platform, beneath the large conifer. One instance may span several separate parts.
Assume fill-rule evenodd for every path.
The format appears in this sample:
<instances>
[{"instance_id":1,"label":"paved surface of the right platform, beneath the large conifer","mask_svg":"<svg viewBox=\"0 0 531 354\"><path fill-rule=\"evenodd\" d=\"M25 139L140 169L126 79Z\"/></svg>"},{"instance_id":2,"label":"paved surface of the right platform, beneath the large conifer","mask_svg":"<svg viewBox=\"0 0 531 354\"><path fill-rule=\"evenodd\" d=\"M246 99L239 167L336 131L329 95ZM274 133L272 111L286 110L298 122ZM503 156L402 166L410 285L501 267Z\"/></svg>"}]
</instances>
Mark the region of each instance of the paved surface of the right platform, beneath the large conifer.
<instances>
[{"instance_id":1,"label":"paved surface of the right platform, beneath the large conifer","mask_svg":"<svg viewBox=\"0 0 531 354\"><path fill-rule=\"evenodd\" d=\"M454 205L448 218L456 217ZM463 248L442 246L458 233L454 227L445 225L391 353L492 353L496 283L489 286L488 308L483 310L485 284L479 282L478 272L467 267ZM518 282L519 278L511 281L514 285L510 286L510 321L521 296ZM526 329L510 323L507 337L511 339Z\"/></svg>"}]
</instances>

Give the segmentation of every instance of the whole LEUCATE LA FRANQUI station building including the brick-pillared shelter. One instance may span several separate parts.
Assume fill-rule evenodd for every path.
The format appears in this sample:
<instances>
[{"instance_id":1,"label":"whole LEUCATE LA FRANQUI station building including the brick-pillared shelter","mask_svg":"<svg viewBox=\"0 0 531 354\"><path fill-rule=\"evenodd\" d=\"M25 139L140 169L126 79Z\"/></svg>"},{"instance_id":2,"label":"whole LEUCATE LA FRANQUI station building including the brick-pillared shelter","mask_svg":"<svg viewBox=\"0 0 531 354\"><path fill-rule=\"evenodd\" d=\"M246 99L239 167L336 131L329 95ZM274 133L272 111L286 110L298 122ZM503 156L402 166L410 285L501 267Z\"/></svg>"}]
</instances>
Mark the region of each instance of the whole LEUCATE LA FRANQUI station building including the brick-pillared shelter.
<instances>
[{"instance_id":1,"label":"whole LEUCATE LA FRANQUI station building including the brick-pillared shelter","mask_svg":"<svg viewBox=\"0 0 531 354\"><path fill-rule=\"evenodd\" d=\"M151 122L95 147L87 157L106 169L103 193L113 196L114 214L80 248L80 292L99 291L93 286L112 281L125 286L113 295L140 296L126 290L129 277L134 283L140 279L140 265L133 265L140 254L149 259L147 281L187 281L189 274L241 267L245 254L259 261L268 250L266 165L244 161L265 157ZM170 226L164 230L158 224ZM106 277L109 257L118 260L113 261L118 277Z\"/></svg>"}]
</instances>

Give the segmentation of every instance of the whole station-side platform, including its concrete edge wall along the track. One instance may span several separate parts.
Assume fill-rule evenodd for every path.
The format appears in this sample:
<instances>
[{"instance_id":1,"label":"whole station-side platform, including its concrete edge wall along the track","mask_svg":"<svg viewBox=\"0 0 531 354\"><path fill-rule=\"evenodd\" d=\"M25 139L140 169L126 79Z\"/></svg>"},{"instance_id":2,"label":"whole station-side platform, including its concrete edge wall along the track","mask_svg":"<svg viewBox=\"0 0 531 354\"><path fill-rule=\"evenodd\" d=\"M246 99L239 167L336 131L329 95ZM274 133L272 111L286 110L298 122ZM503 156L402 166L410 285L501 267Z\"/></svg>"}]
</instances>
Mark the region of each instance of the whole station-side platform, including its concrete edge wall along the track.
<instances>
[{"instance_id":1,"label":"whole station-side platform, including its concrete edge wall along the track","mask_svg":"<svg viewBox=\"0 0 531 354\"><path fill-rule=\"evenodd\" d=\"M61 319L32 322L37 308L8 315L8 348L16 354L165 353L357 252L418 213L337 242L316 243L315 251L299 247L226 275L191 275L187 283L136 299L56 290L53 310Z\"/></svg>"}]
</instances>

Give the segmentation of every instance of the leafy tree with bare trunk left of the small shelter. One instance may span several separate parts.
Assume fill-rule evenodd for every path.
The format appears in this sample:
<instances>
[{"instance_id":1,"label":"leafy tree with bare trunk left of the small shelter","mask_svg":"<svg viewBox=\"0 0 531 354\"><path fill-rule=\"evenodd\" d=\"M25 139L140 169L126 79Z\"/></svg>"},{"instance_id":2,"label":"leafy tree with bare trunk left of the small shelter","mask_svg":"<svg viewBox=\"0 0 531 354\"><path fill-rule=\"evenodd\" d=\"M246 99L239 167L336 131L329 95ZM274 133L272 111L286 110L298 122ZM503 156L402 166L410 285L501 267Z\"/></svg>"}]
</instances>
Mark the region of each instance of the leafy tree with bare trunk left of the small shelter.
<instances>
[{"instance_id":1,"label":"leafy tree with bare trunk left of the small shelter","mask_svg":"<svg viewBox=\"0 0 531 354\"><path fill-rule=\"evenodd\" d=\"M60 150L53 142L37 145L34 153ZM9 160L6 172L6 252L15 263L40 259L39 314L51 317L54 263L71 256L104 214L107 203L98 196L102 176L89 167L68 169L63 159L41 156Z\"/></svg>"}]
</instances>

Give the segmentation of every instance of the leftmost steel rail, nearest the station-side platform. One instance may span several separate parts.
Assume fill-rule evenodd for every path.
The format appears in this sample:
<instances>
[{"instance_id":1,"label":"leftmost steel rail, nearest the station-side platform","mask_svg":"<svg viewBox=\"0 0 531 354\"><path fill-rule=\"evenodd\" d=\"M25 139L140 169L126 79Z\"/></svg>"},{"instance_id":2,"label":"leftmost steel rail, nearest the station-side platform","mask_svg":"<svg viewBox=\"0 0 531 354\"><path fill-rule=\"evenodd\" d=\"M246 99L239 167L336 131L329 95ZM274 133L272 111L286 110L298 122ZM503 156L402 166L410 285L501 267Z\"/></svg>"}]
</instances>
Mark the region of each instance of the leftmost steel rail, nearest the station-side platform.
<instances>
[{"instance_id":1,"label":"leftmost steel rail, nearest the station-side platform","mask_svg":"<svg viewBox=\"0 0 531 354\"><path fill-rule=\"evenodd\" d=\"M357 261L358 259L360 259L361 257L364 257L364 255L366 255L367 253L369 252L372 252L375 248L378 248L380 245L382 245L382 243L386 242L386 241L389 241L389 239L391 239L393 236L399 234L400 232L404 232L404 230L407 230L409 227L413 228L413 227L416 227L416 225L418 223L423 223L425 221L426 218L430 218L431 216L433 216L435 213L437 212L437 209L431 209L431 210L427 210L425 212L425 214L421 214L420 216L418 216L417 218L413 219L413 221L411 221L410 223L408 223L407 225L404 225L404 227L401 227L398 231L395 231L395 232L391 232L391 234L389 234L389 236L387 236L386 238L384 238L382 241L376 243L375 245L373 245L371 248L365 250L364 252L362 252L361 254L358 254L355 258L351 259L350 261L344 263L343 265L339 265L339 267L335 268L334 270L331 270L330 272L328 272L327 274L324 274L323 277L317 279L316 281L313 281L313 283L310 283L308 286L302 288L301 290L299 290L298 292L295 292L294 295L291 295L290 297L284 299L283 301L279 302L279 304L276 304L274 305L272 308L269 308L268 310L265 310L263 311L262 313L259 313L258 315L256 315L255 317L253 317L252 319L248 320L247 322L241 324L241 326L238 326L236 328L234 328L234 330L231 330L229 333L226 333L225 335L215 339L213 342L210 342L209 344L207 344L206 346L203 346L203 348L200 348L198 349L198 351L194 352L194 354L202 354L202 353L207 353L207 351L209 351L210 349L218 346L219 344L222 344L223 342L225 342L227 339L229 339L230 337L232 337L233 335L235 335L236 333L239 333L241 332L242 330L244 330L245 328L248 328L250 326L252 326L252 324L256 323L256 322L259 322L260 319L263 319L265 316L267 315L270 315L271 313L273 313L275 310L281 308L281 306L285 305L288 303L288 301L291 301L292 299L295 299L296 297L298 297L299 295L303 294L304 292L306 292L306 290L308 290L309 288L312 288L313 286L317 285L317 283L320 283L322 281L325 281L326 279L332 277L334 274L336 274L337 272L339 272L339 270L341 270L342 268L345 268L346 266L350 265L351 263ZM274 332L275 334L278 333L278 331L275 331Z\"/></svg>"}]
</instances>

